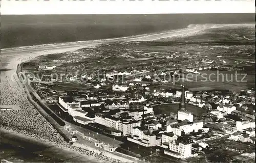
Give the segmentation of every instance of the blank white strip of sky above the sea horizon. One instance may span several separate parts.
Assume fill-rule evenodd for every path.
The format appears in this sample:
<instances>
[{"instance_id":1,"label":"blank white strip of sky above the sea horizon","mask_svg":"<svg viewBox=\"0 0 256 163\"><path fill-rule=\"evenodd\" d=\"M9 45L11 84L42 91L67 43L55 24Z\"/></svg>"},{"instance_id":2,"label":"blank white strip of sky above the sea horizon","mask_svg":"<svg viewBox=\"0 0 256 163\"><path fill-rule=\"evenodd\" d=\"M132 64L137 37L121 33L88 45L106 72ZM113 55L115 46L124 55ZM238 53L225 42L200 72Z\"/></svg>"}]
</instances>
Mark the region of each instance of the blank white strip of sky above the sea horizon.
<instances>
[{"instance_id":1,"label":"blank white strip of sky above the sea horizon","mask_svg":"<svg viewBox=\"0 0 256 163\"><path fill-rule=\"evenodd\" d=\"M1 15L255 13L254 0L1 0Z\"/></svg>"}]
</instances>

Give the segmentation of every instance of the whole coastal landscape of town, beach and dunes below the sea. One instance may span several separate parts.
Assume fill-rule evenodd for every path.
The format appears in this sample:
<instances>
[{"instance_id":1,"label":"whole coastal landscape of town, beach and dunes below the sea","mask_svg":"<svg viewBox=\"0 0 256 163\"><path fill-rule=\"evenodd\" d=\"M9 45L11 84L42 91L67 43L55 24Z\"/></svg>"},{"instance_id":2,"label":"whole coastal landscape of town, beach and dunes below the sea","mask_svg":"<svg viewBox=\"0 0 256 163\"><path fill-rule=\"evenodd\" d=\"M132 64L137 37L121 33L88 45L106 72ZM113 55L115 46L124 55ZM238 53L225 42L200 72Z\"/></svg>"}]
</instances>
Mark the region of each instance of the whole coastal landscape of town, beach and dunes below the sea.
<instances>
[{"instance_id":1,"label":"whole coastal landscape of town, beach and dunes below the sea","mask_svg":"<svg viewBox=\"0 0 256 163\"><path fill-rule=\"evenodd\" d=\"M255 23L1 49L0 122L1 162L254 162Z\"/></svg>"}]
</instances>

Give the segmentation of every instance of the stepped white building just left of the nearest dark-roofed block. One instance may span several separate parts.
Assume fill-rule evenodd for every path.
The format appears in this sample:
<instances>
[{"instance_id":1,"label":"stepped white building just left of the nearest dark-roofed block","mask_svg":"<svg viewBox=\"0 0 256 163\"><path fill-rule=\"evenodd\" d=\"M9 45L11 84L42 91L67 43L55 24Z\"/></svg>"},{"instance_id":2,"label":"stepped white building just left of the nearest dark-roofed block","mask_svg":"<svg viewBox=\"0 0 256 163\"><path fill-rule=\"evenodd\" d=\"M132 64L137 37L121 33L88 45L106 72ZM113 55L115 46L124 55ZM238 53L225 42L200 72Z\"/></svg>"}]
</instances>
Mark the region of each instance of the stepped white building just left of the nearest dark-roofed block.
<instances>
[{"instance_id":1,"label":"stepped white building just left of the nearest dark-roofed block","mask_svg":"<svg viewBox=\"0 0 256 163\"><path fill-rule=\"evenodd\" d=\"M152 147L161 144L161 138L156 137L151 130L144 130L141 127L133 127L132 135L127 137L127 141L134 142L145 147Z\"/></svg>"}]
</instances>

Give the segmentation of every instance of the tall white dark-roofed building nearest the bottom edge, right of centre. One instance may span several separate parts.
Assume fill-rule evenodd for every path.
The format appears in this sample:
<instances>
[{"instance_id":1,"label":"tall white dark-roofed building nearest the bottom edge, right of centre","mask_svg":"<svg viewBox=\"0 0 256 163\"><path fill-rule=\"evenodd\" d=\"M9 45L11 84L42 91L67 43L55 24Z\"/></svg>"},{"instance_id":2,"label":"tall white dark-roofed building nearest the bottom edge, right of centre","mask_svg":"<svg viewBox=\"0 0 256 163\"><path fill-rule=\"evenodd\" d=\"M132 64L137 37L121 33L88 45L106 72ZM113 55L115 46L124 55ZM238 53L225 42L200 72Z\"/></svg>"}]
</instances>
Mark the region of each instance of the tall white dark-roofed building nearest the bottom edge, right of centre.
<instances>
[{"instance_id":1,"label":"tall white dark-roofed building nearest the bottom edge, right of centre","mask_svg":"<svg viewBox=\"0 0 256 163\"><path fill-rule=\"evenodd\" d=\"M164 150L164 154L181 159L191 157L192 143L193 140L189 137L178 137L177 140L169 143L169 150Z\"/></svg>"}]
</instances>

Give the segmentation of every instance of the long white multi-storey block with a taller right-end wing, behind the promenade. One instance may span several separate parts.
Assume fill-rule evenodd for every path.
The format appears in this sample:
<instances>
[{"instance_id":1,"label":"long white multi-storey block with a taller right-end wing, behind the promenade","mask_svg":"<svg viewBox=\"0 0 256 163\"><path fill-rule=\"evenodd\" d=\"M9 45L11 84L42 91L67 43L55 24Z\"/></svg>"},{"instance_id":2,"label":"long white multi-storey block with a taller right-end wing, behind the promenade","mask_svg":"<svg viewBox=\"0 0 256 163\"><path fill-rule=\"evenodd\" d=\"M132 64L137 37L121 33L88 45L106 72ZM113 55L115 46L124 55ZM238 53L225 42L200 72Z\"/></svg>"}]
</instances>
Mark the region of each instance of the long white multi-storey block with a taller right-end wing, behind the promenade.
<instances>
[{"instance_id":1,"label":"long white multi-storey block with a taller right-end wing, behind the promenade","mask_svg":"<svg viewBox=\"0 0 256 163\"><path fill-rule=\"evenodd\" d=\"M132 128L136 126L140 126L140 122L135 121L133 119L119 119L114 117L106 118L106 117L96 116L95 122L110 128L114 128L116 130L120 130L123 132L124 136L131 135Z\"/></svg>"}]
</instances>

